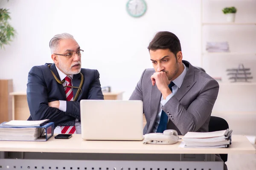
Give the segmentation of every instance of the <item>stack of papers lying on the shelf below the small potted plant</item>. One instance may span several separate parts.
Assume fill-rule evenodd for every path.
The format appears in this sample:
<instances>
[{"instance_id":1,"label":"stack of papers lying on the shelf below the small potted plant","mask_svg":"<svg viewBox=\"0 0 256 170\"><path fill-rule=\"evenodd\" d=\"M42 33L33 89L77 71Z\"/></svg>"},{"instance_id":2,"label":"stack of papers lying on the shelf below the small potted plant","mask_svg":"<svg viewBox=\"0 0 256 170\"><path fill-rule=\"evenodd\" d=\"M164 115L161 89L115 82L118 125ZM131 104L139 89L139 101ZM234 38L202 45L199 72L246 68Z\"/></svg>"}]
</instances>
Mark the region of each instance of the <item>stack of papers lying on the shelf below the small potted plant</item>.
<instances>
[{"instance_id":1,"label":"stack of papers lying on the shelf below the small potted plant","mask_svg":"<svg viewBox=\"0 0 256 170\"><path fill-rule=\"evenodd\" d=\"M206 50L208 52L229 52L228 42L207 42Z\"/></svg>"}]
</instances>

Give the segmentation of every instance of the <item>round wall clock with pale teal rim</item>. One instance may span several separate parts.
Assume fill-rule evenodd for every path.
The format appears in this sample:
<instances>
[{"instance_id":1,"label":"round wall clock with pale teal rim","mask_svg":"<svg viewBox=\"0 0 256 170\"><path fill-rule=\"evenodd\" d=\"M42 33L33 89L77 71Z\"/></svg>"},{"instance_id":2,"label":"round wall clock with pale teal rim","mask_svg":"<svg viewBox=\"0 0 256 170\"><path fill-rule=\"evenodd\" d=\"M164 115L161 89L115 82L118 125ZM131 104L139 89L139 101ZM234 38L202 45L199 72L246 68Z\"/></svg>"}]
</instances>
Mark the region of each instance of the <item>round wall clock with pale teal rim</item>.
<instances>
[{"instance_id":1,"label":"round wall clock with pale teal rim","mask_svg":"<svg viewBox=\"0 0 256 170\"><path fill-rule=\"evenodd\" d=\"M147 10L144 0L129 0L126 4L126 10L132 17L141 17Z\"/></svg>"}]
</instances>

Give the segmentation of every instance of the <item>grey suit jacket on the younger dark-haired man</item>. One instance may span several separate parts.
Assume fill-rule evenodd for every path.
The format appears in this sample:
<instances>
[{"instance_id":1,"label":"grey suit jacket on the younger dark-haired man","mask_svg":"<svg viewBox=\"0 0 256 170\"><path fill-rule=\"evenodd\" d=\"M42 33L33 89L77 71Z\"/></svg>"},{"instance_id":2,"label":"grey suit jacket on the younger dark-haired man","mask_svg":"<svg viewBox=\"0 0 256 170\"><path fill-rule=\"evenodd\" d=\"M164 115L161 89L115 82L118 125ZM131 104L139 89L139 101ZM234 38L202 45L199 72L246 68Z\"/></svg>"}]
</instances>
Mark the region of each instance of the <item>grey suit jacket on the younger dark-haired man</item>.
<instances>
[{"instance_id":1,"label":"grey suit jacket on the younger dark-haired man","mask_svg":"<svg viewBox=\"0 0 256 170\"><path fill-rule=\"evenodd\" d=\"M188 67L183 83L162 107L169 118L174 118L169 119L167 129L177 130L179 135L185 135L189 131L208 132L212 108L218 96L218 82L189 62L183 60L183 63ZM152 68L143 71L130 97L130 100L143 101L143 112L147 121L144 134L151 133L154 127L162 96L157 86L152 86L150 77L154 72Z\"/></svg>"}]
</instances>

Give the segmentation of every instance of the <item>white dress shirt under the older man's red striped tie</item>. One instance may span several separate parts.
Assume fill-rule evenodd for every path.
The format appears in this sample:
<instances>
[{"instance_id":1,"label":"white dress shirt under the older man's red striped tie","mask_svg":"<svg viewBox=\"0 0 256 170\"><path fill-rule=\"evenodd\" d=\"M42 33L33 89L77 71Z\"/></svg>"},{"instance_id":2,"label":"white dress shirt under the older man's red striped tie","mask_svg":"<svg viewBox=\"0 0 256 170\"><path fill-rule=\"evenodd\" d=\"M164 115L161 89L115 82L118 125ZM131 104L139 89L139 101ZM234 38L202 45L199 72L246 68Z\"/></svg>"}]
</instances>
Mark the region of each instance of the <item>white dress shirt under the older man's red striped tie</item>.
<instances>
[{"instance_id":1,"label":"white dress shirt under the older man's red striped tie","mask_svg":"<svg viewBox=\"0 0 256 170\"><path fill-rule=\"evenodd\" d=\"M56 66L55 66L56 67ZM66 74L64 74L63 72L61 72L58 67L56 67L58 74L60 76L60 80L62 81L63 79L65 79L65 77L67 77ZM71 77L71 85L73 86L73 74L70 75ZM63 87L67 85L67 82L65 81L63 84ZM73 94L74 96L74 94ZM60 105L59 105L59 110L66 112L67 110L67 101L64 100L59 100ZM78 119L76 119L75 122L75 126L76 126L76 133L77 134L81 134L81 123L78 122ZM54 129L54 133L61 133L61 127L60 126L56 126L56 128Z\"/></svg>"}]
</instances>

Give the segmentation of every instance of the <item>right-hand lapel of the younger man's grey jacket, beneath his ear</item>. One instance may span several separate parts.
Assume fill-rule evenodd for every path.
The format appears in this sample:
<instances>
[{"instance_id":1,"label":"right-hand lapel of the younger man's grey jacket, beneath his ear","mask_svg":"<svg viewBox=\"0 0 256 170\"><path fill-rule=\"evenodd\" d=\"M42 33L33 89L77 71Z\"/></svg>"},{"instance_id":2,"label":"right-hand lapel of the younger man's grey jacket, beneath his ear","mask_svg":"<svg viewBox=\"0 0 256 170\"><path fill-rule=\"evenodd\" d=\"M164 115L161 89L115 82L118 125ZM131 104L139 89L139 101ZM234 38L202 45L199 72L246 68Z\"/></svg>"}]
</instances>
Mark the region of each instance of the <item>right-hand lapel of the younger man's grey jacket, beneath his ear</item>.
<instances>
[{"instance_id":1,"label":"right-hand lapel of the younger man's grey jacket, beneath his ear","mask_svg":"<svg viewBox=\"0 0 256 170\"><path fill-rule=\"evenodd\" d=\"M187 62L187 61L183 61L183 63L186 65L186 67L188 67L188 71L186 76L183 79L182 85L180 86L180 88L178 89L178 91L175 94L175 97L180 101L182 99L183 96L185 96L185 94L189 91L190 88L192 88L192 86L195 84L195 71L193 66Z\"/></svg>"}]
</instances>

